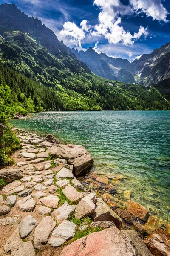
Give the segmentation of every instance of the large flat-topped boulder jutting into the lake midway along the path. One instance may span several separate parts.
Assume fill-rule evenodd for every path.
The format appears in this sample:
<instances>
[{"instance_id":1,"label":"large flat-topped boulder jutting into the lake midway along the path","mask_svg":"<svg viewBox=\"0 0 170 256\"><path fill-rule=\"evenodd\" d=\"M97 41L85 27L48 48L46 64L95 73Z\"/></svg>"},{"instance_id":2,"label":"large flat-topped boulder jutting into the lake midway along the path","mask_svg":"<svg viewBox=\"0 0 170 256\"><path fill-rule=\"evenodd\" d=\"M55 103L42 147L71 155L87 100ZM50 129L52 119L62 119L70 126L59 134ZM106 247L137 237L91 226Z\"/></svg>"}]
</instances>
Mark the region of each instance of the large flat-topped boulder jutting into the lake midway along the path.
<instances>
[{"instance_id":1,"label":"large flat-topped boulder jutting into the lake midway along the path","mask_svg":"<svg viewBox=\"0 0 170 256\"><path fill-rule=\"evenodd\" d=\"M49 148L46 152L57 157L61 156L67 160L68 164L74 166L73 169L76 176L85 172L94 163L91 154L83 146L79 145L58 144Z\"/></svg>"}]
</instances>

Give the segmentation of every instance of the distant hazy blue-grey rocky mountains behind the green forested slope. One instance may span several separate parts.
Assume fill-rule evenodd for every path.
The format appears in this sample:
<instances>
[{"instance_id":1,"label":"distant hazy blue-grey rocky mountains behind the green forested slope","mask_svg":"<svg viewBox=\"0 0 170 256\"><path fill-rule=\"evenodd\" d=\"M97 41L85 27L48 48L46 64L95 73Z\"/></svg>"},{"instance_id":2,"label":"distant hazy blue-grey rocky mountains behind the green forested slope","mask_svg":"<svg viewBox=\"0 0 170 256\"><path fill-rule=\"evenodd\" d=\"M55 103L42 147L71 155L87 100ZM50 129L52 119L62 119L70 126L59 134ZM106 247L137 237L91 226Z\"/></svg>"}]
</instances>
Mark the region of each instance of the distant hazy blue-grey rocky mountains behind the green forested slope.
<instances>
[{"instance_id":1,"label":"distant hazy blue-grey rocky mountains behind the green forested slope","mask_svg":"<svg viewBox=\"0 0 170 256\"><path fill-rule=\"evenodd\" d=\"M71 52L96 75L105 79L147 86L170 79L170 43L156 48L150 54L142 55L132 63L127 59L108 57L104 53L98 54L92 47L85 52L78 52L72 48Z\"/></svg>"}]
</instances>

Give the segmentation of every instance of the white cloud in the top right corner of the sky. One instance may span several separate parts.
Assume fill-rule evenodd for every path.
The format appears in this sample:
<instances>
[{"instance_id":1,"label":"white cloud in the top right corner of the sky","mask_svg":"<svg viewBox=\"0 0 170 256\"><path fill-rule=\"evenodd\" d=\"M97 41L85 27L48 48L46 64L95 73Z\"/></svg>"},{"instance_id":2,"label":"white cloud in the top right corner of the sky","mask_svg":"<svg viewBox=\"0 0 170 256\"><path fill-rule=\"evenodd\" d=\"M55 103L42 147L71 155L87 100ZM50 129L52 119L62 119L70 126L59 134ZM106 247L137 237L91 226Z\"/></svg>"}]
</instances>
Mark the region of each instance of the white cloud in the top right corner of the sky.
<instances>
[{"instance_id":1,"label":"white cloud in the top right corner of the sky","mask_svg":"<svg viewBox=\"0 0 170 256\"><path fill-rule=\"evenodd\" d=\"M153 20L167 22L167 9L163 6L162 0L130 0L135 12L144 12L147 17Z\"/></svg>"}]
</instances>

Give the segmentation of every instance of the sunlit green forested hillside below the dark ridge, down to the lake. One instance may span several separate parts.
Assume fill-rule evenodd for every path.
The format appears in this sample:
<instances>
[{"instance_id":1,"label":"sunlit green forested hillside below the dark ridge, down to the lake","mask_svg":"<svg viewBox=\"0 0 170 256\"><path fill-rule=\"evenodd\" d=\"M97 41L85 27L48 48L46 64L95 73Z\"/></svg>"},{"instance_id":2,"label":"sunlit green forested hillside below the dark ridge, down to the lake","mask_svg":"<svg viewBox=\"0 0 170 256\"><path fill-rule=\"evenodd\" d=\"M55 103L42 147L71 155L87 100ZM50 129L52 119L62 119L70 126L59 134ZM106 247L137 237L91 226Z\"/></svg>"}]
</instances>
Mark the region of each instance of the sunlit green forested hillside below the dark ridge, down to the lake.
<instances>
[{"instance_id":1,"label":"sunlit green forested hillside below the dark ridge, down to the lake","mask_svg":"<svg viewBox=\"0 0 170 256\"><path fill-rule=\"evenodd\" d=\"M16 112L170 109L166 95L154 87L109 81L82 67L73 72L71 52L70 58L56 57L26 33L5 36L0 38L0 84L10 87Z\"/></svg>"}]
</instances>

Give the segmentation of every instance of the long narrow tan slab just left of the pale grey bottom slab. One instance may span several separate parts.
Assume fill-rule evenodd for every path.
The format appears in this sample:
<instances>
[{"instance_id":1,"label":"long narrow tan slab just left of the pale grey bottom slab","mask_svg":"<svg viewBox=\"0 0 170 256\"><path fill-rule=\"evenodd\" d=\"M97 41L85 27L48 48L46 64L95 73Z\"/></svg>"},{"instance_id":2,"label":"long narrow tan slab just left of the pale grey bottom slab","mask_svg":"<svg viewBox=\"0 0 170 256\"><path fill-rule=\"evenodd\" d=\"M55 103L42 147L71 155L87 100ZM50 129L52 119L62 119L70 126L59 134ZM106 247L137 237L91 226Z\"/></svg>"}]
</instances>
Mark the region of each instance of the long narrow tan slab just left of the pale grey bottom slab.
<instances>
[{"instance_id":1,"label":"long narrow tan slab just left of the pale grey bottom slab","mask_svg":"<svg viewBox=\"0 0 170 256\"><path fill-rule=\"evenodd\" d=\"M46 244L48 237L54 230L56 222L50 216L46 216L42 219L40 224L35 228L34 232L34 248L41 249L42 244Z\"/></svg>"}]
</instances>

